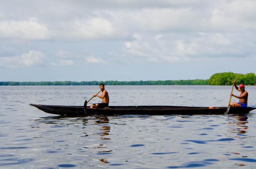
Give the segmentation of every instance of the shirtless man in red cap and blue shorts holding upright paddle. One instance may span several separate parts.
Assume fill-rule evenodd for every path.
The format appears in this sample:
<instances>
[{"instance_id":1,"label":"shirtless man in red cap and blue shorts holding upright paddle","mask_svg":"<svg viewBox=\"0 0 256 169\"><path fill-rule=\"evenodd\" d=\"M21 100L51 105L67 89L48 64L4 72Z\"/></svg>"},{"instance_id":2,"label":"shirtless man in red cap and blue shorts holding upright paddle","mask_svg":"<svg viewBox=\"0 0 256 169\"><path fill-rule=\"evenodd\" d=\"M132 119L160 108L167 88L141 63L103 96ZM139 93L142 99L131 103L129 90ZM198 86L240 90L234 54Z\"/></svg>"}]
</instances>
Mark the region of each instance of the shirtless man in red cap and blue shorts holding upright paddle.
<instances>
[{"instance_id":1,"label":"shirtless man in red cap and blue shorts holding upright paddle","mask_svg":"<svg viewBox=\"0 0 256 169\"><path fill-rule=\"evenodd\" d=\"M244 84L240 84L239 88L236 86L236 80L234 80L234 85L236 87L236 90L240 91L240 95L236 96L234 94L230 94L230 96L234 96L239 99L239 102L233 102L230 103L231 107L247 107L247 99L248 99L248 93L244 90Z\"/></svg>"}]
</instances>

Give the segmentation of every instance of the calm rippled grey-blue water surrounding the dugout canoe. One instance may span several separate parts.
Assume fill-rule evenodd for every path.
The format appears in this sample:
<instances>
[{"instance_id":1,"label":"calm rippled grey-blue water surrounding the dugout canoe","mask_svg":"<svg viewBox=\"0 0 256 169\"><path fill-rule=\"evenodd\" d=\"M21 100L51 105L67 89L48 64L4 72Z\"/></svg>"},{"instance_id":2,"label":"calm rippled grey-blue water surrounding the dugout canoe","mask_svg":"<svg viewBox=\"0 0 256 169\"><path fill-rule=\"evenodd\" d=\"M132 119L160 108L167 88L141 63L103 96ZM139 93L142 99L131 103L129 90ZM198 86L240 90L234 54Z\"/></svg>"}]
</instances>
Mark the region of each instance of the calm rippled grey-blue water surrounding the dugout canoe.
<instances>
[{"instance_id":1,"label":"calm rippled grey-blue water surrounding the dugout canoe","mask_svg":"<svg viewBox=\"0 0 256 169\"><path fill-rule=\"evenodd\" d=\"M110 105L227 106L231 86L106 89ZM256 86L245 89L249 106L256 107ZM28 105L83 105L97 91L98 86L0 86L0 168L256 167L256 111L60 118Z\"/></svg>"}]
</instances>

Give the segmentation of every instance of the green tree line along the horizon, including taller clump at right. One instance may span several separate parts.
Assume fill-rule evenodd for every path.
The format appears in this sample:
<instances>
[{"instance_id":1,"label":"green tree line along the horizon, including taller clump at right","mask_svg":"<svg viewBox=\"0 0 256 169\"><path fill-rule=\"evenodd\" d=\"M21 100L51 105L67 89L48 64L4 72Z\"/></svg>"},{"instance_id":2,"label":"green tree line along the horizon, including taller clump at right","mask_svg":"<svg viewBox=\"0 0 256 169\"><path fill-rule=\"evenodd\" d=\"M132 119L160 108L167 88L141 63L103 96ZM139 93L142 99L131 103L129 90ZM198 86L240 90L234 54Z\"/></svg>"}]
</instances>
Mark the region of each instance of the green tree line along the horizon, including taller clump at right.
<instances>
[{"instance_id":1,"label":"green tree line along the horizon, including taller clump at right","mask_svg":"<svg viewBox=\"0 0 256 169\"><path fill-rule=\"evenodd\" d=\"M232 85L236 77L236 84L256 85L254 73L240 74L232 72L215 73L210 79L196 80L166 80L166 81L0 81L0 86L60 86L60 85Z\"/></svg>"}]
</instances>

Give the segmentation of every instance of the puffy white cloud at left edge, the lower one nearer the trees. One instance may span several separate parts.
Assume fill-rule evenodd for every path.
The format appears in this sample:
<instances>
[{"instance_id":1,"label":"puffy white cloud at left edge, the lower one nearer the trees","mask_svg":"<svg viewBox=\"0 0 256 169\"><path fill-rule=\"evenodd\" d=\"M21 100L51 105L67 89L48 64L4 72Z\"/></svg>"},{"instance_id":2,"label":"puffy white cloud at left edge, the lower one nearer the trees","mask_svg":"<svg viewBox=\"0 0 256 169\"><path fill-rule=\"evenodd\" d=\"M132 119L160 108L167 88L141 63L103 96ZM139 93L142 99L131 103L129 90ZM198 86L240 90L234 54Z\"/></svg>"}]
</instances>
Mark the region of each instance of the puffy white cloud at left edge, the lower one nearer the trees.
<instances>
[{"instance_id":1,"label":"puffy white cloud at left edge, the lower one nearer the trees","mask_svg":"<svg viewBox=\"0 0 256 169\"><path fill-rule=\"evenodd\" d=\"M47 65L46 56L40 51L30 50L20 56L0 57L0 67L16 68Z\"/></svg>"}]
</instances>

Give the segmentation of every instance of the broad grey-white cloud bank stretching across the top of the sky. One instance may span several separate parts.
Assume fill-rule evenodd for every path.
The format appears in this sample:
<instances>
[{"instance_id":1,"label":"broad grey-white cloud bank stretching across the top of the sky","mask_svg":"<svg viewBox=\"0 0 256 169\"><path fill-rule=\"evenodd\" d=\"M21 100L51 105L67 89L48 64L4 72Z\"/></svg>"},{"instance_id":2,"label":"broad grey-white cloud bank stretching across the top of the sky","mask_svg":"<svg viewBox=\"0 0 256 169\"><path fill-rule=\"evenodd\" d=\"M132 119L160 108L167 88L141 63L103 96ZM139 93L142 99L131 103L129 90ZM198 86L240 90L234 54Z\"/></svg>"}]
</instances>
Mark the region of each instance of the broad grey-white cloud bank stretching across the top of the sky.
<instances>
[{"instance_id":1,"label":"broad grey-white cloud bank stretching across the top of the sky","mask_svg":"<svg viewBox=\"0 0 256 169\"><path fill-rule=\"evenodd\" d=\"M14 13L14 17L7 15L5 18L21 18L18 15L22 15L23 18L29 19L0 21L2 37L68 41L127 40L131 36L136 38L139 34L152 36L167 32L220 33L256 28L256 10L254 10L256 2L250 0L211 3L203 0L191 2L97 0L90 3L64 1L62 4L52 2L52 5L45 10L38 7L29 9L31 11L28 11L28 7L24 4L16 4L24 7L23 13ZM41 2L39 4L46 5ZM44 24L37 21L39 19L44 21Z\"/></svg>"}]
</instances>

